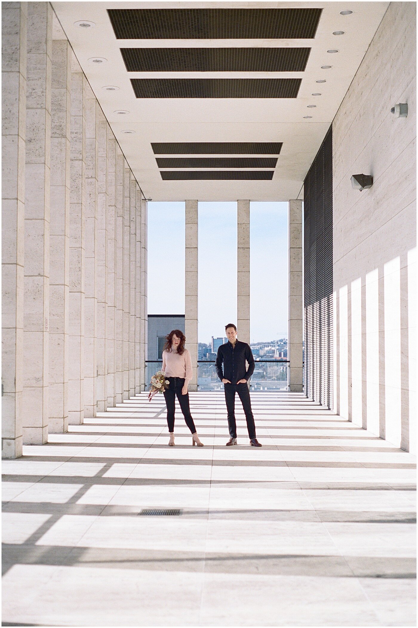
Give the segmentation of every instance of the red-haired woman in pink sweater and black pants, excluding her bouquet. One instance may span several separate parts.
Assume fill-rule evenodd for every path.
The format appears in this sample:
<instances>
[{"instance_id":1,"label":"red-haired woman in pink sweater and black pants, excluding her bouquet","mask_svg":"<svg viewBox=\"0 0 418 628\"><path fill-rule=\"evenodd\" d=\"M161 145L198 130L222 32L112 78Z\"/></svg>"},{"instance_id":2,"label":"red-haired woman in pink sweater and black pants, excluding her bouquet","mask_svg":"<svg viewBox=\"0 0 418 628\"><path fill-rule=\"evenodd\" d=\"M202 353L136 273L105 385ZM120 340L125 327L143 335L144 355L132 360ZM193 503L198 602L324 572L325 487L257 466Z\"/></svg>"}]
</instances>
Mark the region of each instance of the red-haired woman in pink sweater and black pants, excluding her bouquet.
<instances>
[{"instance_id":1,"label":"red-haired woman in pink sweater and black pants, excluding her bouquet","mask_svg":"<svg viewBox=\"0 0 418 628\"><path fill-rule=\"evenodd\" d=\"M197 436L192 415L190 414L189 391L187 387L192 379L192 360L187 349L184 348L185 335L179 329L173 329L166 338L163 350L163 367L165 378L170 385L164 391L165 404L167 405L167 423L170 441L168 445L174 446L174 411L175 396L179 399L180 408L184 416L187 427L192 433L192 445L203 447L203 443Z\"/></svg>"}]
</instances>

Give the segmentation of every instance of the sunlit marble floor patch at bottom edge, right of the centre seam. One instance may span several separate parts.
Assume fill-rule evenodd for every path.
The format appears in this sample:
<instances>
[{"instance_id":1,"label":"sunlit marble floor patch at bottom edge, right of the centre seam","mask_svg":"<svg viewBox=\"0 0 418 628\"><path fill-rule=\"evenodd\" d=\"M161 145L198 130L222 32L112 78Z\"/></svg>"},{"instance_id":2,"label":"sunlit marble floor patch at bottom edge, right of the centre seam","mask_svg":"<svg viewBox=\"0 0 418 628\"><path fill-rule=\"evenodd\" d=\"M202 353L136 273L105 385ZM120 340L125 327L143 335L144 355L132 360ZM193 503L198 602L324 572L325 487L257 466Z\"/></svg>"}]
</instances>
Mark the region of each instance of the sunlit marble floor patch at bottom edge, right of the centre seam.
<instances>
[{"instance_id":1,"label":"sunlit marble floor patch at bottom edge, right of the centre seam","mask_svg":"<svg viewBox=\"0 0 418 628\"><path fill-rule=\"evenodd\" d=\"M202 625L378 626L354 578L206 573Z\"/></svg>"}]
</instances>

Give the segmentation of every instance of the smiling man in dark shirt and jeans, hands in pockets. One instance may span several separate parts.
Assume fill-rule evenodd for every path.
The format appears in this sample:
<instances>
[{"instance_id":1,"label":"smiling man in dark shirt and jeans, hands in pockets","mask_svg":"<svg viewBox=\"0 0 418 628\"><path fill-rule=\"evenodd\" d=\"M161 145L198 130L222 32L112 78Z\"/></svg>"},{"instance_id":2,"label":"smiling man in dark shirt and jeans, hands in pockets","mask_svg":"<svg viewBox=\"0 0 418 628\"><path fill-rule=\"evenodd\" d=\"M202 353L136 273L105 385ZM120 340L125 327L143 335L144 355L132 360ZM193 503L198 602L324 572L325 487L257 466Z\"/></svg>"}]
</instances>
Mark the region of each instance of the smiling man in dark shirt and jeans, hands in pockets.
<instances>
[{"instance_id":1,"label":"smiling man in dark shirt and jeans, hands in pockets","mask_svg":"<svg viewBox=\"0 0 418 628\"><path fill-rule=\"evenodd\" d=\"M235 421L235 393L243 404L245 418L250 436L250 444L253 447L261 447L255 437L254 416L251 411L250 391L247 382L254 372L254 358L250 345L239 342L236 338L236 327L229 323L225 327L228 342L221 345L216 355L217 376L224 384L226 409L228 410L229 438L226 447L236 445L236 421ZM248 371L245 361L248 362Z\"/></svg>"}]
</instances>

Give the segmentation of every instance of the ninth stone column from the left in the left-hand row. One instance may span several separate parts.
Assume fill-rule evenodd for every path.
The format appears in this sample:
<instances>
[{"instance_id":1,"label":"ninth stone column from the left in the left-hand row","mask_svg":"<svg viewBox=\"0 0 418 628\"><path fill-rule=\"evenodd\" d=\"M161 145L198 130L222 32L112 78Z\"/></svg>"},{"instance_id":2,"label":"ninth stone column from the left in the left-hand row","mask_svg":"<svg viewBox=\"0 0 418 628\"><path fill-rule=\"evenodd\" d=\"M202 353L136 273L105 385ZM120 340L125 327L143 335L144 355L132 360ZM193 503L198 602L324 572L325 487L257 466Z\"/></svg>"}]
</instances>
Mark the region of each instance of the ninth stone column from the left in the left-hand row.
<instances>
[{"instance_id":1,"label":"ninth stone column from the left in the left-hand row","mask_svg":"<svg viewBox=\"0 0 418 628\"><path fill-rule=\"evenodd\" d=\"M123 167L123 337L122 337L122 399L129 399L129 248L131 171L124 159Z\"/></svg>"}]
</instances>

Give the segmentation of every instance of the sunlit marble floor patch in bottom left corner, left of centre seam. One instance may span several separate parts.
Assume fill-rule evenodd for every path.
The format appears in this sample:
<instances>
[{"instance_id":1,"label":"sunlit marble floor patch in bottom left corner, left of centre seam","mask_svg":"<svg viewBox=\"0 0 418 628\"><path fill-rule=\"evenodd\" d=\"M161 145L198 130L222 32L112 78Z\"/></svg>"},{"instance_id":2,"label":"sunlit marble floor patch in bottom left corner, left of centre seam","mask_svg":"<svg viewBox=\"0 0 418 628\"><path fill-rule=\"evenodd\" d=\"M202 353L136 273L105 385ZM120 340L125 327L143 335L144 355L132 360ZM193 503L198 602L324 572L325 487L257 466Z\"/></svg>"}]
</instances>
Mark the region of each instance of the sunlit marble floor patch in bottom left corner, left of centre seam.
<instances>
[{"instance_id":1,"label":"sunlit marble floor patch in bottom left corner, left of centre seam","mask_svg":"<svg viewBox=\"0 0 418 628\"><path fill-rule=\"evenodd\" d=\"M17 565L4 577L3 595L7 599L14 590L18 598L4 610L4 621L195 626L199 623L202 575L83 566L26 565L22 569Z\"/></svg>"}]
</instances>

